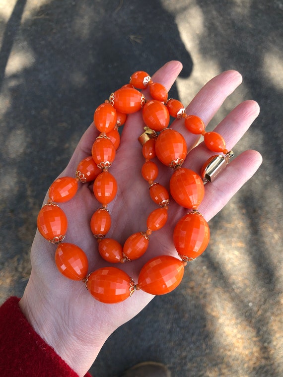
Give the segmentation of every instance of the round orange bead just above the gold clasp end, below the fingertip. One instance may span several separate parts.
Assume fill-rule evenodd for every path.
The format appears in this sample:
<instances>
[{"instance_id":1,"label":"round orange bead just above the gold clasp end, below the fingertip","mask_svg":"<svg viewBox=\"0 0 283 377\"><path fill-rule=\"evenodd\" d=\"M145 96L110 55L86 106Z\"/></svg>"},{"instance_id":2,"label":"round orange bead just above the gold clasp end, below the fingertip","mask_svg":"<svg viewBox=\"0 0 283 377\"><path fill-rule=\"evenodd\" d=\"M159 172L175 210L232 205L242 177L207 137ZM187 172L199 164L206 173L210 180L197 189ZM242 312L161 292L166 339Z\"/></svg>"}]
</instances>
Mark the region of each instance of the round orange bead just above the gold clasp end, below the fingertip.
<instances>
[{"instance_id":1,"label":"round orange bead just above the gold clasp end, below the fingertip","mask_svg":"<svg viewBox=\"0 0 283 377\"><path fill-rule=\"evenodd\" d=\"M170 116L166 106L159 101L150 100L142 108L143 122L154 131L161 131L167 128Z\"/></svg>"}]
</instances>

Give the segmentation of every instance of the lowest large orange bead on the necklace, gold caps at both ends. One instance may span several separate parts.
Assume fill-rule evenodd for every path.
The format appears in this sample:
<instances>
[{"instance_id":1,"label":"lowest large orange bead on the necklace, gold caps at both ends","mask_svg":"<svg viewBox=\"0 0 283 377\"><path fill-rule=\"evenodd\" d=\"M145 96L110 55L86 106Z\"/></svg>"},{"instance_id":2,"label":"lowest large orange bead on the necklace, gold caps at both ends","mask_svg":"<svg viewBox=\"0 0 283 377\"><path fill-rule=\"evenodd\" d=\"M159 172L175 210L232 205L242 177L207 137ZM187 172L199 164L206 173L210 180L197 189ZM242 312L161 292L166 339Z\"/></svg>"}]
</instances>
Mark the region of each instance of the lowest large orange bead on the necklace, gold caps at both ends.
<instances>
[{"instance_id":1,"label":"lowest large orange bead on the necklace, gold caps at both ends","mask_svg":"<svg viewBox=\"0 0 283 377\"><path fill-rule=\"evenodd\" d=\"M130 297L133 289L130 276L116 267L102 267L87 279L87 289L98 301L105 304L120 303Z\"/></svg>"}]
</instances>

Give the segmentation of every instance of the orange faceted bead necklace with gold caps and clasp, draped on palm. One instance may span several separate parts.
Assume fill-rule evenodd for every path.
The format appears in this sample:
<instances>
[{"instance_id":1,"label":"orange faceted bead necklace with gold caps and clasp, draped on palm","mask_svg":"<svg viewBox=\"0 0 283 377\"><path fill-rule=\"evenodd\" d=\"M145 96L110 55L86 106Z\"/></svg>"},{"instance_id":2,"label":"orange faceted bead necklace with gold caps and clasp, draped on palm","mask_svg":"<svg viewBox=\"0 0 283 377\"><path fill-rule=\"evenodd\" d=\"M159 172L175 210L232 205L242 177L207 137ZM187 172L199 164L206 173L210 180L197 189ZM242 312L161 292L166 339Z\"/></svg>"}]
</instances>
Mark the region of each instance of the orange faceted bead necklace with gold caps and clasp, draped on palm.
<instances>
[{"instance_id":1,"label":"orange faceted bead necklace with gold caps and clasp, draped on palm","mask_svg":"<svg viewBox=\"0 0 283 377\"><path fill-rule=\"evenodd\" d=\"M140 90L149 87L151 100L146 101ZM135 290L153 295L162 295L174 290L181 282L184 266L199 256L208 246L210 230L204 217L198 212L203 200L204 183L210 181L225 167L232 151L225 148L225 142L216 132L206 132L203 121L195 115L187 115L182 103L167 100L168 93L163 85L152 82L143 71L135 72L130 84L110 95L109 100L98 106L94 113L94 125L101 132L95 139L91 156L77 166L75 178L58 178L49 188L49 200L42 207L37 218L40 234L49 242L58 244L55 262L59 271L72 280L82 280L91 295L103 303L118 303L132 296ZM139 140L145 159L141 175L149 185L149 194L158 208L147 217L145 232L128 237L124 246L105 236L111 228L111 215L107 205L115 198L117 182L109 172L120 144L118 127L124 125L127 114L142 111L144 132ZM203 166L201 176L182 167L187 155L184 137L168 128L170 116L183 118L187 130L204 136L208 149L224 155L210 158ZM158 133L159 132L159 133ZM87 256L78 246L63 243L68 220L57 203L70 200L77 192L78 183L92 182L95 198L101 207L91 217L90 229L97 239L98 251L102 258L111 263L124 263L138 259L145 253L152 232L161 229L167 221L169 193L155 182L158 167L152 160L157 159L174 169L170 179L172 198L182 207L190 209L177 223L173 242L179 258L161 255L150 259L141 268L138 283L116 267L102 267L88 274Z\"/></svg>"}]
</instances>

